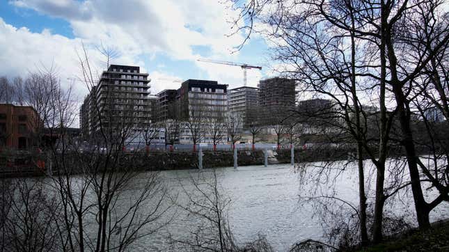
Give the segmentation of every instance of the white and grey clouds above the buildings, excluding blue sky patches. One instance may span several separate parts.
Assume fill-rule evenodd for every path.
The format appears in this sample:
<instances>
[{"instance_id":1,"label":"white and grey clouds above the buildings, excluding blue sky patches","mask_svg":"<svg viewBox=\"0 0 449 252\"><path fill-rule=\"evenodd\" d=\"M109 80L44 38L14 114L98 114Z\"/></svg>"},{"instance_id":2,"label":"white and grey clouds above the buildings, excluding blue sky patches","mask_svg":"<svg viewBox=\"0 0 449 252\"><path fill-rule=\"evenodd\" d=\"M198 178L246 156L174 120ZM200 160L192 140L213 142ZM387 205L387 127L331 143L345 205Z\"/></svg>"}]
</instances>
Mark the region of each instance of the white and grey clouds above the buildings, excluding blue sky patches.
<instances>
[{"instance_id":1,"label":"white and grey clouds above the buildings, excluding blue sky patches","mask_svg":"<svg viewBox=\"0 0 449 252\"><path fill-rule=\"evenodd\" d=\"M10 66L16 71L24 65L38 61L47 63L50 58L63 68L61 74L73 76L79 70L74 48L79 48L81 41L92 49L101 42L119 52L120 58L116 59L115 63L140 65L143 72L150 66L145 65L140 56L155 57L158 53L163 53L173 61L191 61L192 66L196 65L205 70L208 75L205 79L217 80L231 86L243 84L241 68L197 63L196 58L201 56L195 54L192 49L194 46L207 47L210 49L211 58L237 61L239 52L230 52L235 45L242 42L242 36L226 36L231 33L228 21L237 17L237 13L229 8L228 1L18 0L10 1L10 4L65 19L70 23L75 36L74 39L69 39L49 31L31 33L10 26L14 31L5 34L3 38L13 41L19 36L22 41L33 40L13 46L7 42L3 44L3 47L9 47L10 52L0 52L0 56L17 58L17 65ZM3 26L6 25L3 22ZM90 50L90 54L98 56L94 51ZM100 62L96 62L96 65L98 69L104 68ZM150 77L154 80L152 93L164 89L165 86L179 87L179 84L174 85L173 82L155 82L159 76L169 78L173 75L162 71L162 68L158 68L157 72L150 72ZM152 76L153 74L155 76ZM258 70L249 70L249 86L256 86L260 75ZM78 93L84 95L82 88L79 89Z\"/></svg>"}]
</instances>

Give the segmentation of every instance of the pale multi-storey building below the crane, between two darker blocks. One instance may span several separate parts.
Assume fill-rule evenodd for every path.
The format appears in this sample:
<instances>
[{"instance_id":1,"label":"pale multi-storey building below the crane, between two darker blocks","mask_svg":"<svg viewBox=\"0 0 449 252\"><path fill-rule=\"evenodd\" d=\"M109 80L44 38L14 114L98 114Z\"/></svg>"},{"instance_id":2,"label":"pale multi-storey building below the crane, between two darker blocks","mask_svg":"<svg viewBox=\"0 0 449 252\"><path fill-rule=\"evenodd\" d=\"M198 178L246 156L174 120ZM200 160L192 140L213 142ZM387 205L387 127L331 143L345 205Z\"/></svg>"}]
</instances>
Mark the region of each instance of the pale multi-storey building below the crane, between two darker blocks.
<instances>
[{"instance_id":1,"label":"pale multi-storey building below the crane, between two darker blocks","mask_svg":"<svg viewBox=\"0 0 449 252\"><path fill-rule=\"evenodd\" d=\"M244 127L249 127L255 120L253 113L258 106L258 90L249 86L228 90L228 112L239 113Z\"/></svg>"}]
</instances>

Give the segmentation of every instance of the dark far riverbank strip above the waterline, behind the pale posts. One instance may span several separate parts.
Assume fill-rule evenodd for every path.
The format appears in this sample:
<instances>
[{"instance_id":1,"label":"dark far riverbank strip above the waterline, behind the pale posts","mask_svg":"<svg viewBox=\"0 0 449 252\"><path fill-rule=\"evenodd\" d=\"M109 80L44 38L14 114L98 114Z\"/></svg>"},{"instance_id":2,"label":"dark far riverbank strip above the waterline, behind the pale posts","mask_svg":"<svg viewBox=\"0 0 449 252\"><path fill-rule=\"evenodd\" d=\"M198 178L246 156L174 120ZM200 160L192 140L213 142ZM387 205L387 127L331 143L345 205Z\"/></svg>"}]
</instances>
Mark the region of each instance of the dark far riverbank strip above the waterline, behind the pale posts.
<instances>
[{"instance_id":1,"label":"dark far riverbank strip above the waterline, behind the pale posts","mask_svg":"<svg viewBox=\"0 0 449 252\"><path fill-rule=\"evenodd\" d=\"M329 160L349 159L351 151L347 148L315 148L294 150L294 162L320 162ZM88 160L91 153L68 152L65 159ZM102 154L97 153L98 157ZM32 177L56 174L60 169L55 165L50 167L49 157L52 155L33 152L2 152L0 155L0 178ZM58 156L56 156L58 157ZM198 152L125 152L120 159L120 166L132 168L134 171L167 171L198 168ZM233 166L233 151L203 151L204 168L220 168ZM66 161L67 162L67 161ZM264 150L238 150L238 166L257 166L265 162ZM268 164L290 164L290 149L268 150ZM62 171L62 170L61 170ZM71 170L71 174L81 171Z\"/></svg>"}]
</instances>

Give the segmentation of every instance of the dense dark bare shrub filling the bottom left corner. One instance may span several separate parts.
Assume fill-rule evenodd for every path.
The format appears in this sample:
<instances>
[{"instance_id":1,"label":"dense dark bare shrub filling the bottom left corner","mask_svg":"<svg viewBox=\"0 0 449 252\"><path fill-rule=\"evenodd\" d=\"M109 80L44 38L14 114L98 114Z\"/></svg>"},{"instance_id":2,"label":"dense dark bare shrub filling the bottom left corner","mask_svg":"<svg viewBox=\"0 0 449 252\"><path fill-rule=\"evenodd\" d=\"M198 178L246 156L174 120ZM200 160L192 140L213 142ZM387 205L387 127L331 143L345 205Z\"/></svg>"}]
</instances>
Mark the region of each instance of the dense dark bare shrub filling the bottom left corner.
<instances>
[{"instance_id":1,"label":"dense dark bare shrub filling the bottom left corner","mask_svg":"<svg viewBox=\"0 0 449 252\"><path fill-rule=\"evenodd\" d=\"M42 178L17 178L3 191L1 251L52 251L61 249L56 226L60 201L48 196ZM2 184L8 181L2 181ZM7 207L7 208L4 208Z\"/></svg>"}]
</instances>

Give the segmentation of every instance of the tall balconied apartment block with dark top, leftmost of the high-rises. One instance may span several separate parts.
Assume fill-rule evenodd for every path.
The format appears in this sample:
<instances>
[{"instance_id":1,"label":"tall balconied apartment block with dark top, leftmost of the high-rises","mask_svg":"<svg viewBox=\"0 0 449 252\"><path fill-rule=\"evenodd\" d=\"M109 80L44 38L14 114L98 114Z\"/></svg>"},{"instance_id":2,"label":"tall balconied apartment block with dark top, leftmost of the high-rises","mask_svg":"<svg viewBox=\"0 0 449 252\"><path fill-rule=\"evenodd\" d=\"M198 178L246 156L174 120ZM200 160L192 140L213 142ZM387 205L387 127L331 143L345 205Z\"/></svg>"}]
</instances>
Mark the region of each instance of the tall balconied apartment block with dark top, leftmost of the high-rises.
<instances>
[{"instance_id":1,"label":"tall balconied apartment block with dark top, leftmost of the high-rises","mask_svg":"<svg viewBox=\"0 0 449 252\"><path fill-rule=\"evenodd\" d=\"M102 72L80 109L81 132L92 136L102 127L132 127L136 134L151 115L150 79L138 66L110 65ZM124 126L126 125L126 126Z\"/></svg>"}]
</instances>

